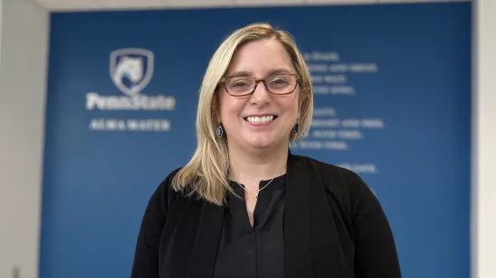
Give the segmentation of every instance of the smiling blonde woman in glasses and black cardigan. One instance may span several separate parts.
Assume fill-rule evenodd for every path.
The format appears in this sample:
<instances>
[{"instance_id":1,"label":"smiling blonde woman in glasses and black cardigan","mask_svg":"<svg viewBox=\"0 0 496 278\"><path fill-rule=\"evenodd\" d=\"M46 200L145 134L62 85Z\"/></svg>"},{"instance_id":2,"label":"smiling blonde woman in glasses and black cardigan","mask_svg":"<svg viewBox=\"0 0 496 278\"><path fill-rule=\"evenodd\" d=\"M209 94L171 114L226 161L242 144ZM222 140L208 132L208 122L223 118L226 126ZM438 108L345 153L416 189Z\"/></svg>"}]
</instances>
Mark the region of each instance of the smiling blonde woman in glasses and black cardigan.
<instances>
[{"instance_id":1,"label":"smiling blonde woman in glasses and black cardigan","mask_svg":"<svg viewBox=\"0 0 496 278\"><path fill-rule=\"evenodd\" d=\"M390 225L360 177L289 152L312 106L287 32L234 31L207 67L197 151L144 213L133 278L400 277Z\"/></svg>"}]
</instances>

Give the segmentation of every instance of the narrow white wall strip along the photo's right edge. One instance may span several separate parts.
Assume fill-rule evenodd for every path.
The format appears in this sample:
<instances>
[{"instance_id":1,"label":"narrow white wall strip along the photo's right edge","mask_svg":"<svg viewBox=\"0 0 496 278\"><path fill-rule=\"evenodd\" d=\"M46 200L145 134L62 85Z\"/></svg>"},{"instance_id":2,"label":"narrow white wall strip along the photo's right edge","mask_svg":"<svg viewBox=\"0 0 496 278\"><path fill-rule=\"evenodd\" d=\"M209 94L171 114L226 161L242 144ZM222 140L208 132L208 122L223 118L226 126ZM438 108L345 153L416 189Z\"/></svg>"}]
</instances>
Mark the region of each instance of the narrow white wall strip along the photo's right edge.
<instances>
[{"instance_id":1,"label":"narrow white wall strip along the photo's right edge","mask_svg":"<svg viewBox=\"0 0 496 278\"><path fill-rule=\"evenodd\" d=\"M496 1L474 12L473 278L496 277Z\"/></svg>"}]
</instances>

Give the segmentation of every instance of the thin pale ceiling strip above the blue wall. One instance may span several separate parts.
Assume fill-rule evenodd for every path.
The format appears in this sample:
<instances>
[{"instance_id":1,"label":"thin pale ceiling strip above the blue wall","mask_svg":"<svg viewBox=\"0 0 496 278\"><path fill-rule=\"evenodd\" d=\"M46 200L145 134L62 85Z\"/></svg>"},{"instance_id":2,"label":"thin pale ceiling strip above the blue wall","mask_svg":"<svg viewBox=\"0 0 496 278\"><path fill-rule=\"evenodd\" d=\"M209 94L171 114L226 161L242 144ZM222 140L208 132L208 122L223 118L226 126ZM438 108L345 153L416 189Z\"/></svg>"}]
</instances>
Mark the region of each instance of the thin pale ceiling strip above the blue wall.
<instances>
[{"instance_id":1,"label":"thin pale ceiling strip above the blue wall","mask_svg":"<svg viewBox=\"0 0 496 278\"><path fill-rule=\"evenodd\" d=\"M467 2L470 0L28 0L51 11L218 8L310 4L390 4Z\"/></svg>"}]
</instances>

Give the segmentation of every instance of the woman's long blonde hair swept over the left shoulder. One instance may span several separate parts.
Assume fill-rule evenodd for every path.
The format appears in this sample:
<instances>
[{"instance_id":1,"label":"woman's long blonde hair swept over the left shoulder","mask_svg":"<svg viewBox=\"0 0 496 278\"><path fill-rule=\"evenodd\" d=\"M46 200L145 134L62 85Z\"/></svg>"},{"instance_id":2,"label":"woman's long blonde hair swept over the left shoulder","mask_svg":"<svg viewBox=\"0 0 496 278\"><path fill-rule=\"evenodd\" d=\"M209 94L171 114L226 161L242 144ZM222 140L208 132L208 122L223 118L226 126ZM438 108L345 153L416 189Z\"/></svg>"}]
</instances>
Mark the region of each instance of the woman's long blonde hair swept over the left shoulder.
<instances>
[{"instance_id":1,"label":"woman's long blonde hair swept over the left shoulder","mask_svg":"<svg viewBox=\"0 0 496 278\"><path fill-rule=\"evenodd\" d=\"M287 31L274 29L267 23L253 23L234 31L210 60L204 76L197 108L197 150L188 164L172 179L172 188L179 192L197 193L197 197L222 205L225 193L233 192L228 181L229 156L227 139L216 137L218 125L213 109L219 80L225 75L236 49L254 40L278 40L288 51L299 74L299 132L291 132L289 141L305 137L313 114L310 75L295 40Z\"/></svg>"}]
</instances>

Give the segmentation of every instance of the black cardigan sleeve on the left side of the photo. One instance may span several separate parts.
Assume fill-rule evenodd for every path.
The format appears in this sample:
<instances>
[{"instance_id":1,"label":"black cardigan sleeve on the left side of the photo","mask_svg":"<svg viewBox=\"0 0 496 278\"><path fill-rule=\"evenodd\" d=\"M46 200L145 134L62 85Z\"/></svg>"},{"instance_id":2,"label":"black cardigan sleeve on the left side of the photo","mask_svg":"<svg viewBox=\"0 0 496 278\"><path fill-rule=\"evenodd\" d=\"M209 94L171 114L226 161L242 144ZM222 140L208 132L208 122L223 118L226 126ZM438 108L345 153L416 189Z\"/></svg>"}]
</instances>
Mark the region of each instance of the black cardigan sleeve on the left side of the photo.
<instances>
[{"instance_id":1,"label":"black cardigan sleeve on the left side of the photo","mask_svg":"<svg viewBox=\"0 0 496 278\"><path fill-rule=\"evenodd\" d=\"M159 247L161 233L165 226L168 212L168 191L173 175L172 172L152 193L138 233L134 251L132 278L159 277Z\"/></svg>"}]
</instances>

